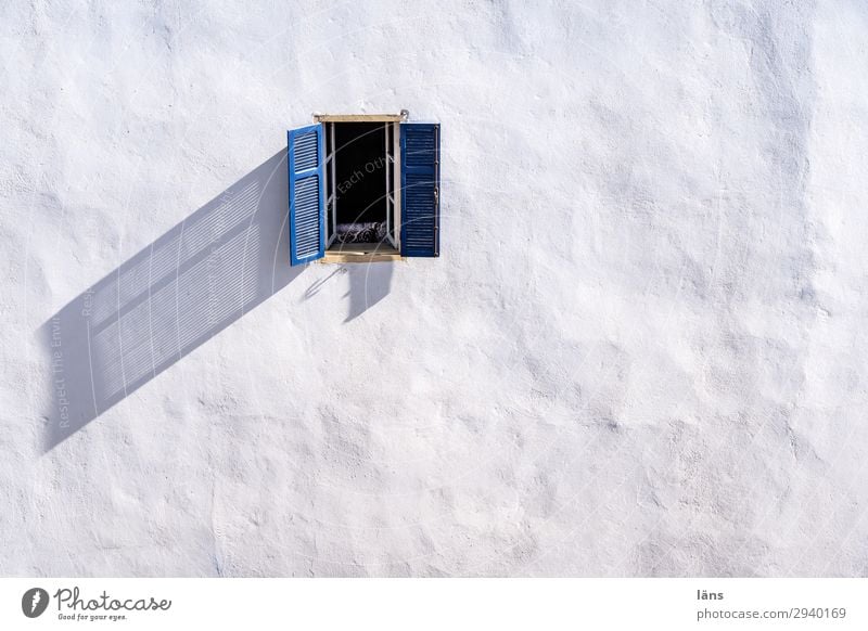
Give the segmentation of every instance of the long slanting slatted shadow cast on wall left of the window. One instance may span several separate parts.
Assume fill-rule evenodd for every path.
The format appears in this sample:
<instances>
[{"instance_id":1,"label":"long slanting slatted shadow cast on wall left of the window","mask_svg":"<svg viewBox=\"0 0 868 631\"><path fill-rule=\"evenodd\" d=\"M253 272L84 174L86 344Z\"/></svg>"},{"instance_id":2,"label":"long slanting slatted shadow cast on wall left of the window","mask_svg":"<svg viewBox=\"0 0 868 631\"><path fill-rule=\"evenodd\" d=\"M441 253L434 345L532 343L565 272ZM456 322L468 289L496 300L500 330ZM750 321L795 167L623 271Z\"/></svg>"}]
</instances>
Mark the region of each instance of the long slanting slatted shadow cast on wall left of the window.
<instances>
[{"instance_id":1,"label":"long slanting slatted shadow cast on wall left of the window","mask_svg":"<svg viewBox=\"0 0 868 631\"><path fill-rule=\"evenodd\" d=\"M289 263L286 190L284 150L39 329L51 382L46 451L301 274Z\"/></svg>"}]
</instances>

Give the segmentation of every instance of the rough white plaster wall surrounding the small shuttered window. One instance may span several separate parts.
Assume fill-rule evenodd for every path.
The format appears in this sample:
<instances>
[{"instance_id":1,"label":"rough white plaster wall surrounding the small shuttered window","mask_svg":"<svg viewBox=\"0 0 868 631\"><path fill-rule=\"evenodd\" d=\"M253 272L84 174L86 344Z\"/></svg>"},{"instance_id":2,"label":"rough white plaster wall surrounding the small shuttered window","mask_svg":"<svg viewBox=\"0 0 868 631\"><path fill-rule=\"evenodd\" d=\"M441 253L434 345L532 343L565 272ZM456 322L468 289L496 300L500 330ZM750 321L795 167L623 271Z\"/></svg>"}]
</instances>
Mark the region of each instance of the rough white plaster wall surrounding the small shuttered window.
<instances>
[{"instance_id":1,"label":"rough white plaster wall surrounding the small shuttered window","mask_svg":"<svg viewBox=\"0 0 868 631\"><path fill-rule=\"evenodd\" d=\"M868 9L0 8L0 572L868 574ZM286 263L285 129L443 125Z\"/></svg>"}]
</instances>

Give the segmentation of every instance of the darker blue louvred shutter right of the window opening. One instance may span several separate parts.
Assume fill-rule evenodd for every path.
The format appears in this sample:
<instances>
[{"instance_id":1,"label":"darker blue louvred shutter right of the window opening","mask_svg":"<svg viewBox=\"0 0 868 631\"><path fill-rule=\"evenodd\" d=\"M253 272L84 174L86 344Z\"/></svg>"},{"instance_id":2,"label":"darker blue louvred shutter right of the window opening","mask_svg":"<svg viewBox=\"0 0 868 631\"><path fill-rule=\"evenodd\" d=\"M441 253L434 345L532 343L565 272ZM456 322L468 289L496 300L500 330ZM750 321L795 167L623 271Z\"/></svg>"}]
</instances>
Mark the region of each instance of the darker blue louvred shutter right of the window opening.
<instances>
[{"instance_id":1,"label":"darker blue louvred shutter right of the window opening","mask_svg":"<svg viewBox=\"0 0 868 631\"><path fill-rule=\"evenodd\" d=\"M400 254L441 254L441 126L400 126Z\"/></svg>"}]
</instances>

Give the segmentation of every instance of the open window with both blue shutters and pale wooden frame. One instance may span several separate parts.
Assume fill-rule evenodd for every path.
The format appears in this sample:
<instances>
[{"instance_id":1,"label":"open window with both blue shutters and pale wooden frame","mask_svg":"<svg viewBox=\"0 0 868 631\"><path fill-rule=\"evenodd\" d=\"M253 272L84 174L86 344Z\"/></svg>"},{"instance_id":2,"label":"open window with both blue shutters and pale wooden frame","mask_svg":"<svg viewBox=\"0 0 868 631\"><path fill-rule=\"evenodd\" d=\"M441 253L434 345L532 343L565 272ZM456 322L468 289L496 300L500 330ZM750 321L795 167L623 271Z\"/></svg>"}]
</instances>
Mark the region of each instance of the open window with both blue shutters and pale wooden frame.
<instances>
[{"instance_id":1,"label":"open window with both blue shutters and pale wooden frame","mask_svg":"<svg viewBox=\"0 0 868 631\"><path fill-rule=\"evenodd\" d=\"M290 263L439 256L439 125L318 115L288 132Z\"/></svg>"}]
</instances>

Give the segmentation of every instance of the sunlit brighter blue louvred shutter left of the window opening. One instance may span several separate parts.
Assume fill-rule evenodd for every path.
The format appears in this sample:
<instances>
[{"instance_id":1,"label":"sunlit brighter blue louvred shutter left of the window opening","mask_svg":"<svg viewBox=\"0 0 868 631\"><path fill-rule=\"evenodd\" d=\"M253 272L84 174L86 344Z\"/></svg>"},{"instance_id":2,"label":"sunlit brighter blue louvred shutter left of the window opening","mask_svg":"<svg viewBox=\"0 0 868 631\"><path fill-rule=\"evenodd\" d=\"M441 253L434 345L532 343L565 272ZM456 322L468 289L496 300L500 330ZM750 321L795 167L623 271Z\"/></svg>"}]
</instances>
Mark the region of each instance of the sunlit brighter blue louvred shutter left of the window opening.
<instances>
[{"instance_id":1,"label":"sunlit brighter blue louvred shutter left of the window opening","mask_svg":"<svg viewBox=\"0 0 868 631\"><path fill-rule=\"evenodd\" d=\"M326 254L326 181L322 125L286 132L290 169L290 265Z\"/></svg>"}]
</instances>

